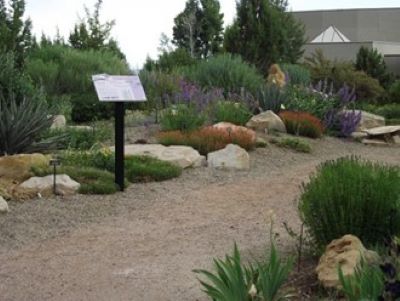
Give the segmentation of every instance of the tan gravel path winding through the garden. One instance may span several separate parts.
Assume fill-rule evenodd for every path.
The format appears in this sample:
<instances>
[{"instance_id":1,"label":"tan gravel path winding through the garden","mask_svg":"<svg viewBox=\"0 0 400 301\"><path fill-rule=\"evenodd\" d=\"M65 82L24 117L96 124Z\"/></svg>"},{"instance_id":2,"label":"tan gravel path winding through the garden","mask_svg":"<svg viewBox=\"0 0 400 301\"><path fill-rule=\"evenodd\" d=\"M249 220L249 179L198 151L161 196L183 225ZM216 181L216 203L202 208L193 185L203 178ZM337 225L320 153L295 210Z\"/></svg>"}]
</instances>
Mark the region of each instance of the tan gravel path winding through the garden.
<instances>
[{"instance_id":1,"label":"tan gravel path winding through the garden","mask_svg":"<svg viewBox=\"0 0 400 301\"><path fill-rule=\"evenodd\" d=\"M112 196L10 202L0 216L0 300L207 300L192 272L210 268L236 241L247 259L269 243L274 210L279 249L299 229L300 184L325 160L359 155L400 164L400 148L324 138L312 154L270 146L251 170L198 168Z\"/></svg>"}]
</instances>

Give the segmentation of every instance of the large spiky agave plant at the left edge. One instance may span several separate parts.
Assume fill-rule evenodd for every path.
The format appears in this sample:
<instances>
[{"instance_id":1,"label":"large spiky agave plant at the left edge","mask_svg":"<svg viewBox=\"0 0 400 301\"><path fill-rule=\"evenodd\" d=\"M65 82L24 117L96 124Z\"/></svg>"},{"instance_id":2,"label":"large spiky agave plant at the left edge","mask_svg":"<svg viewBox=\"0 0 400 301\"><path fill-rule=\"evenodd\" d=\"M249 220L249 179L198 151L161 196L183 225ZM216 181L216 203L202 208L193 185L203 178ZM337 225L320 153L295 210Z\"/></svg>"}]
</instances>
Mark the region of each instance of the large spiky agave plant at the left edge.
<instances>
[{"instance_id":1,"label":"large spiky agave plant at the left edge","mask_svg":"<svg viewBox=\"0 0 400 301\"><path fill-rule=\"evenodd\" d=\"M14 94L7 100L0 95L0 156L41 151L54 145L54 139L39 141L51 123L40 96L17 101Z\"/></svg>"}]
</instances>

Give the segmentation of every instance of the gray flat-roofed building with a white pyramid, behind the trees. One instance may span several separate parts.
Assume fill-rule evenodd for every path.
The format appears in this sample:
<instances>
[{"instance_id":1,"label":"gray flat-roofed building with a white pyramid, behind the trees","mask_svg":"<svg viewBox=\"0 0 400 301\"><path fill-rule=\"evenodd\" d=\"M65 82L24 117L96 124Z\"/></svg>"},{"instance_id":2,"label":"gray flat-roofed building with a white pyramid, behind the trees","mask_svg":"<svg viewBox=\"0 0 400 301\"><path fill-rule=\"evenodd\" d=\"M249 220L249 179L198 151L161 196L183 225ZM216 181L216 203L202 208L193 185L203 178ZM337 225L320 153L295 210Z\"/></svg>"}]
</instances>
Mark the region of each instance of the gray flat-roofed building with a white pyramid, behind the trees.
<instances>
[{"instance_id":1,"label":"gray flat-roofed building with a white pyramid, behind the trees","mask_svg":"<svg viewBox=\"0 0 400 301\"><path fill-rule=\"evenodd\" d=\"M305 24L304 56L317 48L331 59L355 60L361 46L377 49L400 75L400 7L293 12Z\"/></svg>"}]
</instances>

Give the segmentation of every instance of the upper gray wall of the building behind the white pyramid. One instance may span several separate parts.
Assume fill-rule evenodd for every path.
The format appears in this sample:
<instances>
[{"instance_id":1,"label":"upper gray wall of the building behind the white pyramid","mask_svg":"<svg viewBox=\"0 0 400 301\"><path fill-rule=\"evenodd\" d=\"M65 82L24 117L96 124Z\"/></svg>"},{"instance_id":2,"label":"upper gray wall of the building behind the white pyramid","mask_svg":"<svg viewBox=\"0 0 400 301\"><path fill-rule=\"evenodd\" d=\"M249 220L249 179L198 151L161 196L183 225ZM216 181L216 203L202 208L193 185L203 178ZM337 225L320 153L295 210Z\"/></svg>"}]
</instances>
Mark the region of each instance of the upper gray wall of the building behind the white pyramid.
<instances>
[{"instance_id":1,"label":"upper gray wall of the building behind the white pyramid","mask_svg":"<svg viewBox=\"0 0 400 301\"><path fill-rule=\"evenodd\" d=\"M352 42L400 42L400 7L293 12L311 41L334 25Z\"/></svg>"}]
</instances>

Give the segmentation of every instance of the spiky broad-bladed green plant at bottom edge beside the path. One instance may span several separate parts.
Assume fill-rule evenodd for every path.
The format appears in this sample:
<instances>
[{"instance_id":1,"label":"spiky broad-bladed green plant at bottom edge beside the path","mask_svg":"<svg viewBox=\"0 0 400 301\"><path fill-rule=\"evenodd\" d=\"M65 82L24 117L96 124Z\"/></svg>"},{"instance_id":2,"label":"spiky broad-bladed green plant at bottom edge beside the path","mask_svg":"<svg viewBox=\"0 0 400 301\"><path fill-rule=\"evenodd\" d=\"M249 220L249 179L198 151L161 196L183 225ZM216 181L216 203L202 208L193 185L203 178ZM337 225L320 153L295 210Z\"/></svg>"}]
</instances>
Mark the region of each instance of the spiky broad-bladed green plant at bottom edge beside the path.
<instances>
[{"instance_id":1,"label":"spiky broad-bladed green plant at bottom edge beside the path","mask_svg":"<svg viewBox=\"0 0 400 301\"><path fill-rule=\"evenodd\" d=\"M206 270L194 270L206 278L200 280L203 291L215 301L274 301L286 300L281 291L292 268L292 261L283 262L272 245L267 262L258 262L255 266L244 265L235 244L233 255L225 260L214 259L215 273Z\"/></svg>"}]
</instances>

